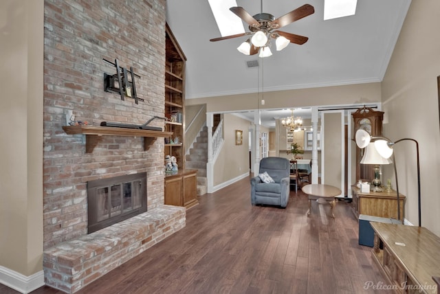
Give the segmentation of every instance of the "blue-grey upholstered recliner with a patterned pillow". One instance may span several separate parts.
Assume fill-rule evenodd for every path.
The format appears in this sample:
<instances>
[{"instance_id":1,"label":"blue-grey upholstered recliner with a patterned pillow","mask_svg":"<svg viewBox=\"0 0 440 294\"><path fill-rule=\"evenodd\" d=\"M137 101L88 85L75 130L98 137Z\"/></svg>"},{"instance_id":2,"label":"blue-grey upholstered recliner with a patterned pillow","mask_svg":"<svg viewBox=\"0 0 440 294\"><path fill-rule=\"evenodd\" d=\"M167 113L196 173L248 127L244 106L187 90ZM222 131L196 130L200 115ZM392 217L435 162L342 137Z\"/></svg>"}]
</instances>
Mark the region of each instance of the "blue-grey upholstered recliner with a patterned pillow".
<instances>
[{"instance_id":1,"label":"blue-grey upholstered recliner with a patterned pillow","mask_svg":"<svg viewBox=\"0 0 440 294\"><path fill-rule=\"evenodd\" d=\"M252 205L269 204L287 206L289 201L290 163L283 157L265 157L260 161L259 174L267 174L275 183L264 183L257 175L250 179Z\"/></svg>"}]
</instances>

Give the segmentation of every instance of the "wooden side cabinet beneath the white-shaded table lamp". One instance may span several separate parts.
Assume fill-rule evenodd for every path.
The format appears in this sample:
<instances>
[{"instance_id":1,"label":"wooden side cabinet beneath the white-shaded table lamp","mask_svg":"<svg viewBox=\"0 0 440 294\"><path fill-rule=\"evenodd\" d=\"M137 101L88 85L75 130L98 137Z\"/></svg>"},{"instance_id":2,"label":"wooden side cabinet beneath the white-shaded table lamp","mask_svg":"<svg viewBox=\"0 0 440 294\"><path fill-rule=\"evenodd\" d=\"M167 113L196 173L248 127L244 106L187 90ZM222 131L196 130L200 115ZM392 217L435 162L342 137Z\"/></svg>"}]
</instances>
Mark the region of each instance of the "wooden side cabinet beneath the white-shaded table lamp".
<instances>
[{"instance_id":1,"label":"wooden side cabinet beneath the white-shaded table lamp","mask_svg":"<svg viewBox=\"0 0 440 294\"><path fill-rule=\"evenodd\" d=\"M379 216L382 218L397 219L397 193L388 192L360 192L360 188L352 186L352 205L355 216L360 214ZM400 220L404 219L406 196L399 193Z\"/></svg>"}]
</instances>

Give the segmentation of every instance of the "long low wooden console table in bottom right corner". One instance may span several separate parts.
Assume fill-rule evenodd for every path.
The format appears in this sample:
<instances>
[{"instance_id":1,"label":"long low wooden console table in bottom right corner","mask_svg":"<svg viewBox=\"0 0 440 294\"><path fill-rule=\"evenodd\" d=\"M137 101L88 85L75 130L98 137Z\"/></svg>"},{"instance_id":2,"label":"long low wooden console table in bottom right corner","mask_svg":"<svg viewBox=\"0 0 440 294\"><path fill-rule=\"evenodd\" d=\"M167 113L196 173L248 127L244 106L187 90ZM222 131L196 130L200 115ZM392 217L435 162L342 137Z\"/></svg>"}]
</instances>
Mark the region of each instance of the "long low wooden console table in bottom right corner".
<instances>
[{"instance_id":1,"label":"long low wooden console table in bottom right corner","mask_svg":"<svg viewBox=\"0 0 440 294\"><path fill-rule=\"evenodd\" d=\"M371 222L373 258L397 293L437 293L440 238L425 227ZM382 245L382 249L381 249Z\"/></svg>"}]
</instances>

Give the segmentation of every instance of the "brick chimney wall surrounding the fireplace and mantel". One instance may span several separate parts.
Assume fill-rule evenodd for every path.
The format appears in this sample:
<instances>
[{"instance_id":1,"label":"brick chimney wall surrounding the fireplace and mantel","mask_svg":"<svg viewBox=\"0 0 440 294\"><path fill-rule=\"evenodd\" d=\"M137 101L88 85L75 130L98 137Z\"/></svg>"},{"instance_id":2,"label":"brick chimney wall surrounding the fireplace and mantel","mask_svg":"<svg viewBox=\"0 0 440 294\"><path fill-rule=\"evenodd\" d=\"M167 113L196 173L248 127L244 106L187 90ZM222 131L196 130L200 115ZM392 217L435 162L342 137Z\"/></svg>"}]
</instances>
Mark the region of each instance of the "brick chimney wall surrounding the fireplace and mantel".
<instances>
[{"instance_id":1,"label":"brick chimney wall surrounding the fireplace and mantel","mask_svg":"<svg viewBox=\"0 0 440 294\"><path fill-rule=\"evenodd\" d=\"M148 210L164 203L164 139L144 151L140 137L103 136L85 153L85 135L66 135L65 115L143 124L164 115L165 0L45 0L44 248L87 234L86 183L147 172ZM133 67L135 104L103 90L118 58ZM160 120L152 125L163 126Z\"/></svg>"}]
</instances>

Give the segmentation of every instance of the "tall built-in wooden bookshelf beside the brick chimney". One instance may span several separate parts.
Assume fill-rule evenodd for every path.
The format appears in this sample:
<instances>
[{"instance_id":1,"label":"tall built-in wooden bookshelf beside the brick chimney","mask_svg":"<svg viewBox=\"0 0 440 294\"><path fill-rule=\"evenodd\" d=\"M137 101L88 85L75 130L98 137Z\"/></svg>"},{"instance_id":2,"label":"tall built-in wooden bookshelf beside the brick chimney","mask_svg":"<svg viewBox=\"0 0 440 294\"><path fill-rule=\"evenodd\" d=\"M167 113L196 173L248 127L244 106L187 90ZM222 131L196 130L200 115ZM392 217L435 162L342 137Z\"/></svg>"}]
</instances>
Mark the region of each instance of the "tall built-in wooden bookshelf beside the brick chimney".
<instances>
[{"instance_id":1,"label":"tall built-in wooden bookshelf beside the brick chimney","mask_svg":"<svg viewBox=\"0 0 440 294\"><path fill-rule=\"evenodd\" d=\"M166 25L165 52L165 131L173 135L165 138L165 156L174 156L179 169L185 168L184 111L185 111L185 63L173 32Z\"/></svg>"}]
</instances>

